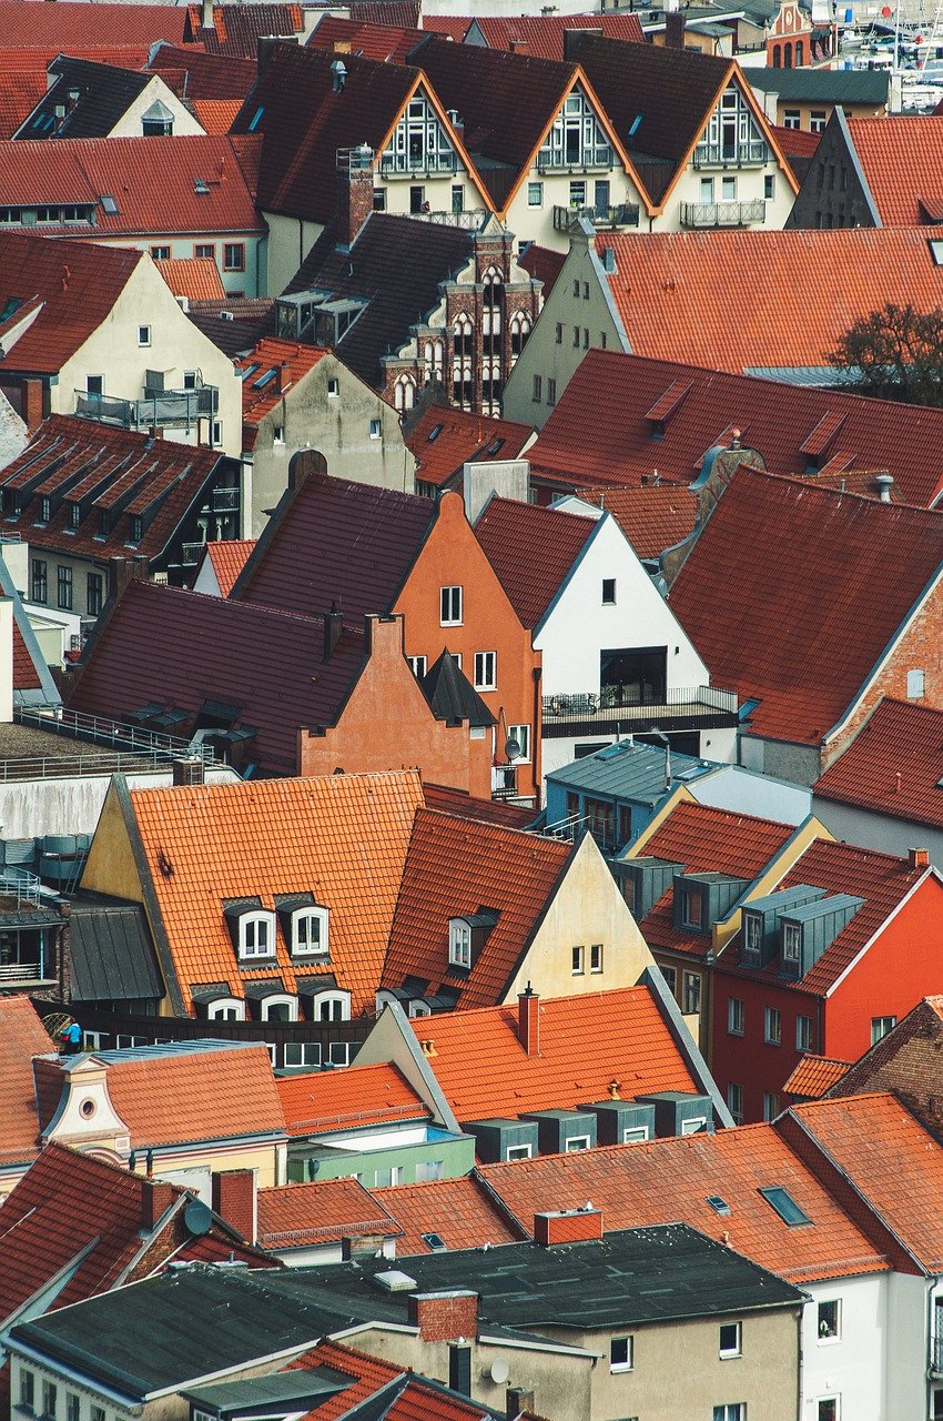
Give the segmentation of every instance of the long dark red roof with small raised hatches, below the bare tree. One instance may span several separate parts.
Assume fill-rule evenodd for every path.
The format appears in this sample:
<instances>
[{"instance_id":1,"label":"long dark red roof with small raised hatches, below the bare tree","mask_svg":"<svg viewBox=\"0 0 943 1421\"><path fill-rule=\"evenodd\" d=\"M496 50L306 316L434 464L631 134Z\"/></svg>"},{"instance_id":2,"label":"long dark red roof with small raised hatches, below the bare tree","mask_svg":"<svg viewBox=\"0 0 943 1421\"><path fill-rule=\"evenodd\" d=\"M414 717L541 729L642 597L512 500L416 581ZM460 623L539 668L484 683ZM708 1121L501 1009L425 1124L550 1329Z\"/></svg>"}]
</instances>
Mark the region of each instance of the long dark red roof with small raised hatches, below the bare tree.
<instances>
[{"instance_id":1,"label":"long dark red roof with small raised hatches, below the bare tree","mask_svg":"<svg viewBox=\"0 0 943 1421\"><path fill-rule=\"evenodd\" d=\"M662 422L660 438L653 438L649 411L672 389L683 398ZM802 446L827 418L834 429L819 455L825 468L841 476L878 463L898 480L906 502L922 507L943 493L940 409L895 405L889 438L883 399L619 351L588 351L527 455L535 473L568 485L639 486L653 470L686 485L697 477L707 450L727 446L736 428L744 449L758 450L773 473L814 477Z\"/></svg>"}]
</instances>

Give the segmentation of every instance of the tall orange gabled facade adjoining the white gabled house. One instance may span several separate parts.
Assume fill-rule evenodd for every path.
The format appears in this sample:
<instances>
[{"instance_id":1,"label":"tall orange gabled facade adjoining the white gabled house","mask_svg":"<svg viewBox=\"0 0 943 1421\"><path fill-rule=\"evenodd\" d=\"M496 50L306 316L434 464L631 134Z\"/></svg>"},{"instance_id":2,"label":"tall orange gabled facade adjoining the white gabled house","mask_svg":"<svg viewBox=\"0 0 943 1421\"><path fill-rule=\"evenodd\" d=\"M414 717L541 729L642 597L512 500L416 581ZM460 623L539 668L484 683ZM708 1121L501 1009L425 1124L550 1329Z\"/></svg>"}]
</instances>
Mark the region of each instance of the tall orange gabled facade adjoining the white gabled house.
<instances>
[{"instance_id":1,"label":"tall orange gabled facade adjoining the white gabled house","mask_svg":"<svg viewBox=\"0 0 943 1421\"><path fill-rule=\"evenodd\" d=\"M541 654L484 556L460 495L445 493L439 500L395 611L405 617L408 657L425 657L432 666L447 648L462 658L462 671L497 722L487 732L494 786L510 780L503 766L513 736L523 750L514 762L516 797L540 803ZM491 783L484 791L490 796Z\"/></svg>"}]
</instances>

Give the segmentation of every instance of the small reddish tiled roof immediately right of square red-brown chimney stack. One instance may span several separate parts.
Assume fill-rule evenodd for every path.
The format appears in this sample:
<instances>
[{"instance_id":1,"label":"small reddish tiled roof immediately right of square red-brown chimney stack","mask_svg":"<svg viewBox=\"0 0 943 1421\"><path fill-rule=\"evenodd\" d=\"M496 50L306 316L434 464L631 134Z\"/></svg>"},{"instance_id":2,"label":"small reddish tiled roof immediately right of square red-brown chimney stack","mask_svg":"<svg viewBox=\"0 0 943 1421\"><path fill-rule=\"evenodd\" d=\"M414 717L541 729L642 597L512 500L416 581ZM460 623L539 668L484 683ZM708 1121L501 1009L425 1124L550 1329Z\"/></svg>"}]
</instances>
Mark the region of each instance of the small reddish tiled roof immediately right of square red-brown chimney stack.
<instances>
[{"instance_id":1,"label":"small reddish tiled roof immediately right of square red-brown chimney stack","mask_svg":"<svg viewBox=\"0 0 943 1421\"><path fill-rule=\"evenodd\" d=\"M260 1189L257 1211L258 1246L271 1250L337 1243L348 1233L398 1232L382 1204L356 1179Z\"/></svg>"}]
</instances>

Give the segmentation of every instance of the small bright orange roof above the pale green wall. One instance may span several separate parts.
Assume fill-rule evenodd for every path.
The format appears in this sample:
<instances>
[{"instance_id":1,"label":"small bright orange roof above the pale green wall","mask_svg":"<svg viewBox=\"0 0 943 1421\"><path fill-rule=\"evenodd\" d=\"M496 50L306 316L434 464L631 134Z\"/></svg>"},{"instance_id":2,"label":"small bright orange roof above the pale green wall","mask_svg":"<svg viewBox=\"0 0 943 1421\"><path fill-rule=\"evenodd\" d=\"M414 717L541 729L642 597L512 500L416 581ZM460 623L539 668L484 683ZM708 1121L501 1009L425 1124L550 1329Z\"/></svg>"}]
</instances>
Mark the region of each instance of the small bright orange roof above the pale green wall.
<instances>
[{"instance_id":1,"label":"small bright orange roof above the pale green wall","mask_svg":"<svg viewBox=\"0 0 943 1421\"><path fill-rule=\"evenodd\" d=\"M349 1134L432 1115L402 1071L386 1063L281 1076L276 1087L290 1135Z\"/></svg>"}]
</instances>

